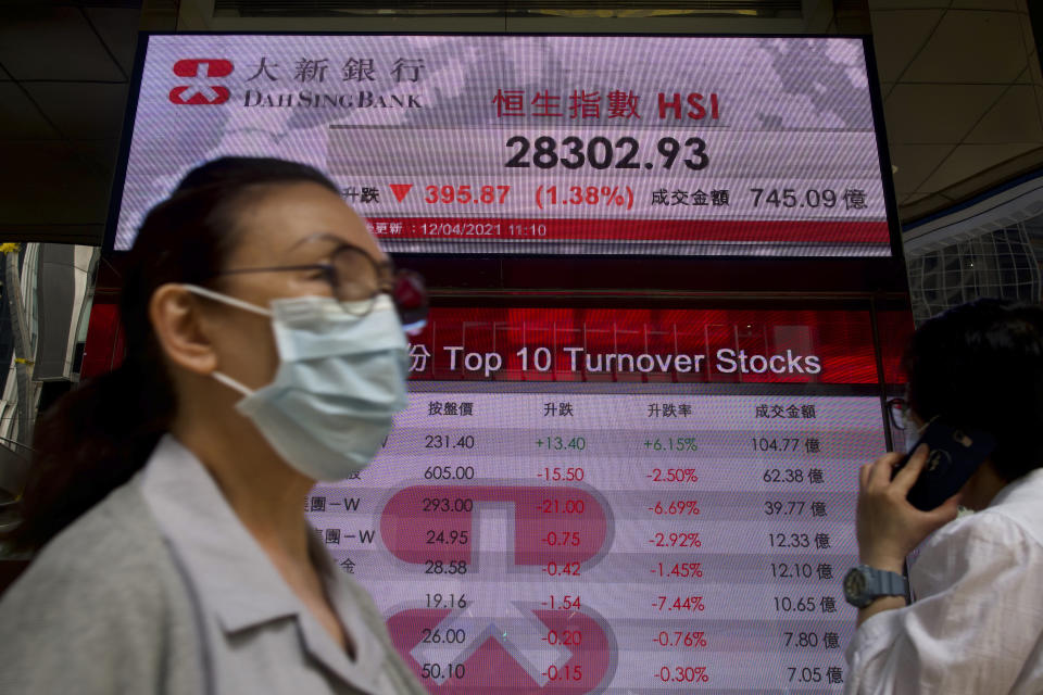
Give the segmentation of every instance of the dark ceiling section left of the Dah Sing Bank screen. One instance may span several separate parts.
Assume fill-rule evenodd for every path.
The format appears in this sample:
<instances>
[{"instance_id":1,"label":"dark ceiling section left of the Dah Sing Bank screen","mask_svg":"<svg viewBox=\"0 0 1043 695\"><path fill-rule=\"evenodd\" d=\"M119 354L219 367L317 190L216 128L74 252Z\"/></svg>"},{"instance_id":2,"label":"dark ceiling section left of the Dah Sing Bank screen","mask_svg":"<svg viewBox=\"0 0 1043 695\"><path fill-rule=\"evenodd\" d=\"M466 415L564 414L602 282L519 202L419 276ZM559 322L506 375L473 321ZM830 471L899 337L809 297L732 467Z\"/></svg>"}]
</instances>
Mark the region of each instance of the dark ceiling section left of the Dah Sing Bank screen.
<instances>
[{"instance_id":1,"label":"dark ceiling section left of the Dah Sing Bank screen","mask_svg":"<svg viewBox=\"0 0 1043 695\"><path fill-rule=\"evenodd\" d=\"M141 11L0 10L0 233L100 239Z\"/></svg>"}]
</instances>

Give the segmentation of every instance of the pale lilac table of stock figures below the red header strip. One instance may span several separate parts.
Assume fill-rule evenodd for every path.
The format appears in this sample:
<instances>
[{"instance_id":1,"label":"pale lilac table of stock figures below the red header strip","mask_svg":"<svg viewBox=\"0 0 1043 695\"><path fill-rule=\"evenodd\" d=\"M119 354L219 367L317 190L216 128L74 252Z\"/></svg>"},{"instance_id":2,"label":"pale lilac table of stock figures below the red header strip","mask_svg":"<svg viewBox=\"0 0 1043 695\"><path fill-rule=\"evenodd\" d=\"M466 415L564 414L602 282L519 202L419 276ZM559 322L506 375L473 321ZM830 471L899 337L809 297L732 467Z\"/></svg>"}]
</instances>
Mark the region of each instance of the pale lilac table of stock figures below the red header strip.
<instances>
[{"instance_id":1,"label":"pale lilac table of stock figures below the red header strip","mask_svg":"<svg viewBox=\"0 0 1043 695\"><path fill-rule=\"evenodd\" d=\"M436 692L839 692L877 440L875 399L414 394L312 517Z\"/></svg>"}]
</instances>

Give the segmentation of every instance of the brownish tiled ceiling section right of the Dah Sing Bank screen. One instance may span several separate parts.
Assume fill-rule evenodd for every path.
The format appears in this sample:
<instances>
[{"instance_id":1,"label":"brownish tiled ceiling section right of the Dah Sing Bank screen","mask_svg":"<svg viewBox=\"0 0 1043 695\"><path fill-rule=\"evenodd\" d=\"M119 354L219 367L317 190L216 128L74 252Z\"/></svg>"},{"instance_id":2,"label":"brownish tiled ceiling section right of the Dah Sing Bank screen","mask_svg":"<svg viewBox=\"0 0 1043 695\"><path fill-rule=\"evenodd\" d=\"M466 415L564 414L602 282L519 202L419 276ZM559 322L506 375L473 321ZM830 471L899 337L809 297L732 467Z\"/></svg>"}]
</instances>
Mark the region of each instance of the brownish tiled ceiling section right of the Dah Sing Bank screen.
<instances>
[{"instance_id":1,"label":"brownish tiled ceiling section right of the Dah Sing Bank screen","mask_svg":"<svg viewBox=\"0 0 1043 695\"><path fill-rule=\"evenodd\" d=\"M903 220L1043 163L1027 0L870 0Z\"/></svg>"}]
</instances>

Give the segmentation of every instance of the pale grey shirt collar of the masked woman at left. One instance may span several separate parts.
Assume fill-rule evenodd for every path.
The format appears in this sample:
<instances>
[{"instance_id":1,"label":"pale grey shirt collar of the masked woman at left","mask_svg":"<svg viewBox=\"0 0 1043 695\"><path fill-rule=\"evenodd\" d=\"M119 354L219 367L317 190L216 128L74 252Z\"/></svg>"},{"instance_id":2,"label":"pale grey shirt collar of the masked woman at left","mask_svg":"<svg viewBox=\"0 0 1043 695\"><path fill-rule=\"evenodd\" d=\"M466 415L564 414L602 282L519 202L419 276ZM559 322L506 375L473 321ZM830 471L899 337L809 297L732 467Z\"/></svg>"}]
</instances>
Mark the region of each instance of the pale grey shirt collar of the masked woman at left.
<instances>
[{"instance_id":1,"label":"pale grey shirt collar of the masked woman at left","mask_svg":"<svg viewBox=\"0 0 1043 695\"><path fill-rule=\"evenodd\" d=\"M297 617L303 646L312 656L345 680L373 686L384 660L379 643L313 532L309 554L354 643L354 662L306 614L210 472L173 435L164 435L156 444L146 465L142 493L201 603L216 615L226 633Z\"/></svg>"}]
</instances>

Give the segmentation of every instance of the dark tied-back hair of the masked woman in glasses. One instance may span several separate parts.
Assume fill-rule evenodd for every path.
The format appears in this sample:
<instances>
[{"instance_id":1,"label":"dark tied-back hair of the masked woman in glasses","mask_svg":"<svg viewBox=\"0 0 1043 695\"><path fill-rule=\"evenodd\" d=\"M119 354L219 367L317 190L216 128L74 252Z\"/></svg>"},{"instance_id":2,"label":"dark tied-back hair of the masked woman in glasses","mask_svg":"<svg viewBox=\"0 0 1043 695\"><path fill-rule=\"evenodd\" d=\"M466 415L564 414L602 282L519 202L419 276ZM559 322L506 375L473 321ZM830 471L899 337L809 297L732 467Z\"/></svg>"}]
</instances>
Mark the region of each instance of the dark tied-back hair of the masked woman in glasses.
<instances>
[{"instance_id":1,"label":"dark tied-back hair of the masked woman in glasses","mask_svg":"<svg viewBox=\"0 0 1043 695\"><path fill-rule=\"evenodd\" d=\"M152 293L167 282L212 282L241 238L243 206L267 187L301 182L338 192L304 164L224 157L189 172L148 213L120 295L124 362L81 383L40 418L22 521L2 540L18 549L42 546L144 466L177 409L149 320Z\"/></svg>"}]
</instances>

